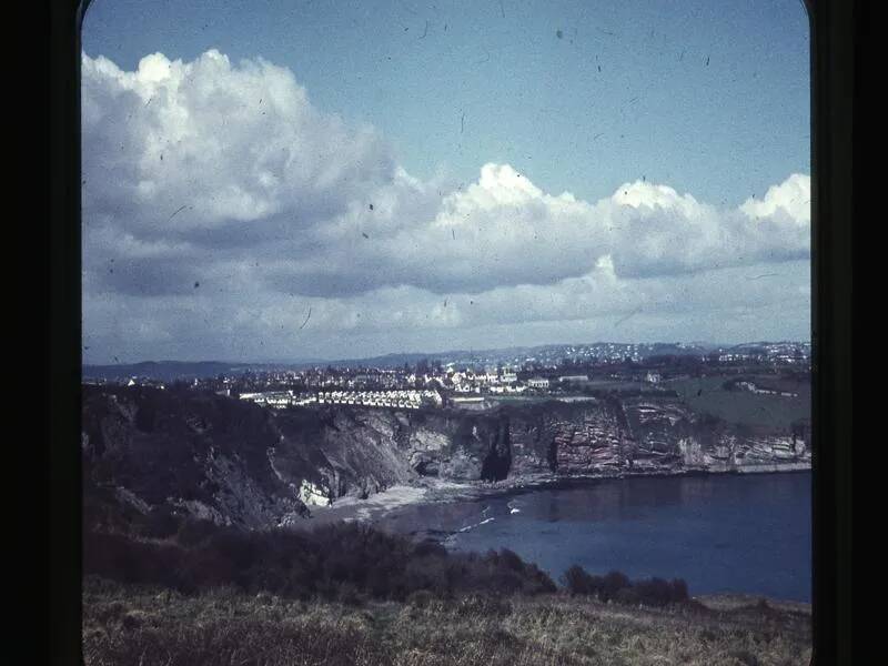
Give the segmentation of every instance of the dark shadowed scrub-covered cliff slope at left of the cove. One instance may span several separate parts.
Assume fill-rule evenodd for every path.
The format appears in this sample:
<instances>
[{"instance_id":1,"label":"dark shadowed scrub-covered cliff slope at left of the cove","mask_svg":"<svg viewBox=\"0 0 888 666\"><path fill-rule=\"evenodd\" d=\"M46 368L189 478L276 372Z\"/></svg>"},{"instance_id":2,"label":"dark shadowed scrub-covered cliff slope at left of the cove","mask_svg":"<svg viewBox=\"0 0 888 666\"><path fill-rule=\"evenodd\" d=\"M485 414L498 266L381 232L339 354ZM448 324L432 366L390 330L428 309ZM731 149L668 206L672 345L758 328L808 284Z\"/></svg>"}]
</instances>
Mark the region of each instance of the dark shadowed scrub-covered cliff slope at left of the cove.
<instances>
[{"instance_id":1,"label":"dark shadowed scrub-covered cliff slope at left of the cove","mask_svg":"<svg viewBox=\"0 0 888 666\"><path fill-rule=\"evenodd\" d=\"M113 491L123 508L142 515L164 507L250 527L296 519L306 509L295 480L274 473L279 442L273 418L255 405L159 390L87 391L87 513L92 500ZM313 463L303 455L292 466L307 476Z\"/></svg>"}]
</instances>

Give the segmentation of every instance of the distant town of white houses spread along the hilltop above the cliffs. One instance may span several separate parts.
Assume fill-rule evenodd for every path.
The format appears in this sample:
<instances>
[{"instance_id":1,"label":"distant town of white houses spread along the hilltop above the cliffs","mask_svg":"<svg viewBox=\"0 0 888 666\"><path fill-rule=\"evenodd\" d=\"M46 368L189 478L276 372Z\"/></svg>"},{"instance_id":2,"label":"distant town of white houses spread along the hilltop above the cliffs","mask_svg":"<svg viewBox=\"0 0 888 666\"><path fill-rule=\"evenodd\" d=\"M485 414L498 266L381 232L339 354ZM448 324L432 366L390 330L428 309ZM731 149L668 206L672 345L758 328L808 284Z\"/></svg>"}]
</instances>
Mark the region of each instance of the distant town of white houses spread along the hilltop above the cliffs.
<instances>
[{"instance_id":1,"label":"distant town of white houses spread along the hilltop above the cliffs","mask_svg":"<svg viewBox=\"0 0 888 666\"><path fill-rule=\"evenodd\" d=\"M451 357L461 354L458 360ZM273 408L360 405L486 410L509 401L572 402L593 398L602 392L669 393L670 386L682 380L720 375L733 391L790 396L795 394L786 390L780 377L807 380L810 371L807 342L712 349L680 343L596 343L465 356L442 354L401 365L394 365L392 357L382 357L304 367L232 367L215 376L180 376L172 381ZM161 389L170 383L150 373L92 374L101 376L91 376L87 369L84 383ZM769 375L774 376L773 382Z\"/></svg>"}]
</instances>

